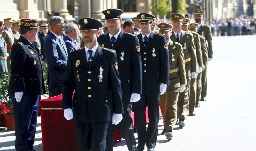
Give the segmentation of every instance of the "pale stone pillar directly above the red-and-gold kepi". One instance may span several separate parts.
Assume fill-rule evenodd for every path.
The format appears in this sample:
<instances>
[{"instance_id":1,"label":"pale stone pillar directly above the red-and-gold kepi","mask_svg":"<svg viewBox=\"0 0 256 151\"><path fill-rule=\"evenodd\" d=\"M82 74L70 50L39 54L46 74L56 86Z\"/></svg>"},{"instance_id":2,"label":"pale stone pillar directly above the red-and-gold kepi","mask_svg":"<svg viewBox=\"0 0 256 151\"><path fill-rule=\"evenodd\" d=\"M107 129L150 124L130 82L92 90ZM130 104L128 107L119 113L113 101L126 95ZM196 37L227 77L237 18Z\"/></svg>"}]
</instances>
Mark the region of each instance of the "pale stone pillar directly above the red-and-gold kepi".
<instances>
[{"instance_id":1,"label":"pale stone pillar directly above the red-and-gold kepi","mask_svg":"<svg viewBox=\"0 0 256 151\"><path fill-rule=\"evenodd\" d=\"M20 0L20 18L39 19L39 11L37 9L37 0Z\"/></svg>"}]
</instances>

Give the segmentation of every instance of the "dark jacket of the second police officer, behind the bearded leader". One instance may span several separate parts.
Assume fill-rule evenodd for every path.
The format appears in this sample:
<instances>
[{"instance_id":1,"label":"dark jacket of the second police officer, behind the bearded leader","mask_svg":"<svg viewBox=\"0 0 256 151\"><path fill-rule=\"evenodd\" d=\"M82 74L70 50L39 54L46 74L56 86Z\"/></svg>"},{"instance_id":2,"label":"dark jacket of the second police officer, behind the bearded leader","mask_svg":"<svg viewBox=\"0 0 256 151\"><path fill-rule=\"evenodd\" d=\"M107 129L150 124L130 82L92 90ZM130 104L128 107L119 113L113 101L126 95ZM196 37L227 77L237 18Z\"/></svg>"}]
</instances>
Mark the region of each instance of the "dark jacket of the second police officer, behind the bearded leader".
<instances>
[{"instance_id":1,"label":"dark jacket of the second police officer, behind the bearded leader","mask_svg":"<svg viewBox=\"0 0 256 151\"><path fill-rule=\"evenodd\" d=\"M98 43L101 47L111 48L109 33L102 34ZM130 104L132 93L141 93L142 66L139 47L138 37L123 30L112 47L116 50L124 107Z\"/></svg>"}]
</instances>

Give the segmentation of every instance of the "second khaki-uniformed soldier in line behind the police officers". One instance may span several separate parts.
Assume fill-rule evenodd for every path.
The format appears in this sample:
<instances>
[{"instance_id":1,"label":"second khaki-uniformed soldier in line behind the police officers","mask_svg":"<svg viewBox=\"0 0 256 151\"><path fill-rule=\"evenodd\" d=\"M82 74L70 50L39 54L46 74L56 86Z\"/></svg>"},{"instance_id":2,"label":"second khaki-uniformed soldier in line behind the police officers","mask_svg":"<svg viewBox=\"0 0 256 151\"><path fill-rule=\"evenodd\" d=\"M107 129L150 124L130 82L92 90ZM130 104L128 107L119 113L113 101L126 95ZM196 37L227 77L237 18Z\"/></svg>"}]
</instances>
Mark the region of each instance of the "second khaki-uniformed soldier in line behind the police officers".
<instances>
[{"instance_id":1,"label":"second khaki-uniformed soldier in line behind the police officers","mask_svg":"<svg viewBox=\"0 0 256 151\"><path fill-rule=\"evenodd\" d=\"M185 59L185 69L186 69L186 78L187 86L186 90L179 94L178 101L178 118L180 127L184 127L184 120L187 116L188 110L188 101L189 101L189 90L190 90L190 81L191 78L196 78L198 72L197 69L197 58L196 50L194 45L193 34L185 32L181 29L183 24L184 16L179 13L173 13L170 15L173 31L171 35L171 40L179 42L183 47L184 59ZM191 61L191 62L190 62Z\"/></svg>"}]
</instances>

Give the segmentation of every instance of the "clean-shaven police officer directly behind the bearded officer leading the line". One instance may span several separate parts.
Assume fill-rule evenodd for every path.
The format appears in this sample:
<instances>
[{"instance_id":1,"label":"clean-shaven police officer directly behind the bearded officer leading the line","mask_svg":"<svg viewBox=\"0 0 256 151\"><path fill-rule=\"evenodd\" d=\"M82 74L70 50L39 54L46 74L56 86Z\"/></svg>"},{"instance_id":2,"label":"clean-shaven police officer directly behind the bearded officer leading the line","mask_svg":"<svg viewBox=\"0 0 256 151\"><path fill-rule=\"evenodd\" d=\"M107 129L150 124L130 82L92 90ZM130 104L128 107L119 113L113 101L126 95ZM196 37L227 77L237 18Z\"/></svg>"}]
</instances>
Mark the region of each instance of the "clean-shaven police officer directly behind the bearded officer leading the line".
<instances>
[{"instance_id":1,"label":"clean-shaven police officer directly behind the bearded officer leading the line","mask_svg":"<svg viewBox=\"0 0 256 151\"><path fill-rule=\"evenodd\" d=\"M142 87L142 66L140 58L140 44L135 34L124 32L120 26L120 18L123 10L107 9L102 11L107 20L108 33L101 34L98 43L101 47L112 48L116 50L118 60L118 71L121 79L122 102L123 102L123 120L117 125L119 132L126 141L128 150L137 150L136 140L134 138L133 121L130 116L132 102L140 100ZM116 125L110 123L107 133L106 150L113 150L113 133Z\"/></svg>"}]
</instances>

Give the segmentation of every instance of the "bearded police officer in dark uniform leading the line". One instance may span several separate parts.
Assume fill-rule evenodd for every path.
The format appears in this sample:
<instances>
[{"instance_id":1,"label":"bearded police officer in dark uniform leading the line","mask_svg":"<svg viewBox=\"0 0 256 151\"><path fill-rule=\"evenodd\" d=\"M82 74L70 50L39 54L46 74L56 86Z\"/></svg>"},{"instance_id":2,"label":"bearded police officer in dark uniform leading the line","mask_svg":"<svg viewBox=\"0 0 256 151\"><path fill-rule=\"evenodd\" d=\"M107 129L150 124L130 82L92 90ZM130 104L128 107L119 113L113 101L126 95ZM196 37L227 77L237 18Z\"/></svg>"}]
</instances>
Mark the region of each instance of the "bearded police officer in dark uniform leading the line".
<instances>
[{"instance_id":1,"label":"bearded police officer in dark uniform leading the line","mask_svg":"<svg viewBox=\"0 0 256 151\"><path fill-rule=\"evenodd\" d=\"M100 21L83 18L79 24L85 46L68 55L63 81L64 117L74 117L80 151L105 151L111 113L113 124L118 124L124 113L116 52L97 43Z\"/></svg>"}]
</instances>

